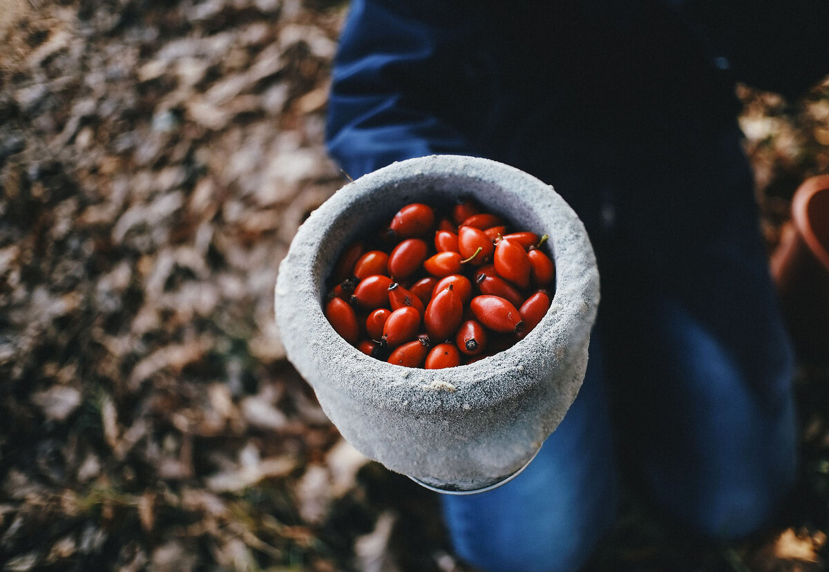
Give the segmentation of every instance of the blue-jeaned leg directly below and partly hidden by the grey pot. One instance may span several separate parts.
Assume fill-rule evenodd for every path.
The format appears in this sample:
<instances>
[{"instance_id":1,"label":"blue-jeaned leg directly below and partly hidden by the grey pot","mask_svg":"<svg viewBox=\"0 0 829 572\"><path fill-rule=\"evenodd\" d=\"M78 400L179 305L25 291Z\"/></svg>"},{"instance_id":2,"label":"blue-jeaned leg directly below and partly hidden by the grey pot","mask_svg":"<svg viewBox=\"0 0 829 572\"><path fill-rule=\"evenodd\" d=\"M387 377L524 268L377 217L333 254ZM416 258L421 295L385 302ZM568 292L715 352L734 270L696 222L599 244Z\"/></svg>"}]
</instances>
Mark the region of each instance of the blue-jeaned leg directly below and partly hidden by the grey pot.
<instances>
[{"instance_id":1,"label":"blue-jeaned leg directly below and partly hidden by the grey pot","mask_svg":"<svg viewBox=\"0 0 829 572\"><path fill-rule=\"evenodd\" d=\"M579 395L529 467L490 492L441 496L455 551L485 570L578 570L615 516L610 440L594 339Z\"/></svg>"}]
</instances>

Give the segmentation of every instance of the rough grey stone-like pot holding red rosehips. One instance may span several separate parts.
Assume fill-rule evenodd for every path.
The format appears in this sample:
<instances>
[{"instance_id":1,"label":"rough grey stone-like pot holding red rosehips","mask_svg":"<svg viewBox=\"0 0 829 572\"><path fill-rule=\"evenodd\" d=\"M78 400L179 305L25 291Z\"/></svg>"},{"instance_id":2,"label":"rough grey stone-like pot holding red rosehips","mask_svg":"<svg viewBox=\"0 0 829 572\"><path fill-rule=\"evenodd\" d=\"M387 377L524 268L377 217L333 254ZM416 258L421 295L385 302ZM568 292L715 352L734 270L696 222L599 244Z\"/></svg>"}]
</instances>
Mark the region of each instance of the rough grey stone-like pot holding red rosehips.
<instances>
[{"instance_id":1,"label":"rough grey stone-like pot holding red rosehips","mask_svg":"<svg viewBox=\"0 0 829 572\"><path fill-rule=\"evenodd\" d=\"M473 197L517 228L550 235L555 296L513 347L468 366L391 365L342 339L322 313L326 280L346 245L410 202ZM515 167L440 155L360 177L299 228L275 289L288 359L357 450L444 492L474 492L524 468L579 391L599 304L599 273L579 218L553 188Z\"/></svg>"}]
</instances>

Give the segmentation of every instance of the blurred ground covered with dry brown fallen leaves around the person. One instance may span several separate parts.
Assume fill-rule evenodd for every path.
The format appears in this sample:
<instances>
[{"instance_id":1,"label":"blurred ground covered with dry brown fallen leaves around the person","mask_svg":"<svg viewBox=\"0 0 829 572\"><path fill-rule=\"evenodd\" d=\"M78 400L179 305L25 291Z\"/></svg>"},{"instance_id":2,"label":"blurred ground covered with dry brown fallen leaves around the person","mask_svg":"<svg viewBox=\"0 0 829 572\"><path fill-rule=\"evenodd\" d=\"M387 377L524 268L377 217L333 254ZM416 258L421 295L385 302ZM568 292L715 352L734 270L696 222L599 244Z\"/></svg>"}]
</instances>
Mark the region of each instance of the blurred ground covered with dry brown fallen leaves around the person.
<instances>
[{"instance_id":1,"label":"blurred ground covered with dry brown fallen leaves around the person","mask_svg":"<svg viewBox=\"0 0 829 572\"><path fill-rule=\"evenodd\" d=\"M0 10L2 570L470 570L431 493L342 441L275 331L279 260L345 180L322 139L347 3ZM739 95L772 252L829 172L829 81ZM591 570L827 570L829 371L796 383L777 521L711 545L628 499Z\"/></svg>"}]
</instances>

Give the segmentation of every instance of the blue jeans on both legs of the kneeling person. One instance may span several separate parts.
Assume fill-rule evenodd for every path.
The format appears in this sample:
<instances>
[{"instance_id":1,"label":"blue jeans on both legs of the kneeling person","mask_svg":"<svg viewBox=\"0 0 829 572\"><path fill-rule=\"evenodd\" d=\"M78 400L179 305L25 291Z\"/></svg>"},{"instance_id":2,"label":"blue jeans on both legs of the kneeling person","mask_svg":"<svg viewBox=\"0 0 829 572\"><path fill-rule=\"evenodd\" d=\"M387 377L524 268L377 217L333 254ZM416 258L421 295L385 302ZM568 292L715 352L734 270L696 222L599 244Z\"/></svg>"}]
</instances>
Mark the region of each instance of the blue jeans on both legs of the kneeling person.
<instances>
[{"instance_id":1,"label":"blue jeans on both legs of the kneeling person","mask_svg":"<svg viewBox=\"0 0 829 572\"><path fill-rule=\"evenodd\" d=\"M620 475L707 536L773 516L796 472L793 357L750 172L725 175L720 193L674 182L679 206L652 192L667 221L593 229L603 298L584 385L524 473L441 497L458 555L486 570L577 570L613 524ZM689 213L695 188L710 201Z\"/></svg>"}]
</instances>

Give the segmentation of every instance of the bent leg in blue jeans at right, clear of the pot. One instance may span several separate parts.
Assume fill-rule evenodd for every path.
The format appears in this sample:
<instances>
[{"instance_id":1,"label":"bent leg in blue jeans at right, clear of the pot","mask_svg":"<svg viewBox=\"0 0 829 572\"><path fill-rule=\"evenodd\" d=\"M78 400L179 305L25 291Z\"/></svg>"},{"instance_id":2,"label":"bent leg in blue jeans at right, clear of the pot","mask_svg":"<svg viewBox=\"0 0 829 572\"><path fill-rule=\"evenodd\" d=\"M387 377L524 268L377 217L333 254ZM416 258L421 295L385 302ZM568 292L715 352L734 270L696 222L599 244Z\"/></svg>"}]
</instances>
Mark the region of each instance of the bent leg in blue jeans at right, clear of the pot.
<instances>
[{"instance_id":1,"label":"bent leg in blue jeans at right, clear of the pot","mask_svg":"<svg viewBox=\"0 0 829 572\"><path fill-rule=\"evenodd\" d=\"M754 209L747 200L726 215L725 225L701 219L658 263L611 268L604 311L619 457L659 506L733 538L791 489L796 424L793 357Z\"/></svg>"}]
</instances>

